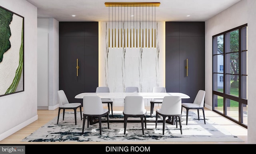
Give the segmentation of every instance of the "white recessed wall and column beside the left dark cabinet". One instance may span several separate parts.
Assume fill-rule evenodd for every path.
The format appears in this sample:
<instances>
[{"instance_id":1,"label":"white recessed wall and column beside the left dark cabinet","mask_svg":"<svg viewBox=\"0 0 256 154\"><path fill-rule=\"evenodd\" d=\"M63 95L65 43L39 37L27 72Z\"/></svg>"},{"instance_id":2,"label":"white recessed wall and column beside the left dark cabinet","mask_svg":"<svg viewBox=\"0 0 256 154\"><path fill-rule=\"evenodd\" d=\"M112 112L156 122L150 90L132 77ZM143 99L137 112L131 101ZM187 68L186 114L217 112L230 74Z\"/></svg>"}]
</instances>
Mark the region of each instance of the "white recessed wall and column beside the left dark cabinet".
<instances>
[{"instance_id":1,"label":"white recessed wall and column beside the left dark cabinet","mask_svg":"<svg viewBox=\"0 0 256 154\"><path fill-rule=\"evenodd\" d=\"M38 18L38 109L58 108L59 22Z\"/></svg>"}]
</instances>

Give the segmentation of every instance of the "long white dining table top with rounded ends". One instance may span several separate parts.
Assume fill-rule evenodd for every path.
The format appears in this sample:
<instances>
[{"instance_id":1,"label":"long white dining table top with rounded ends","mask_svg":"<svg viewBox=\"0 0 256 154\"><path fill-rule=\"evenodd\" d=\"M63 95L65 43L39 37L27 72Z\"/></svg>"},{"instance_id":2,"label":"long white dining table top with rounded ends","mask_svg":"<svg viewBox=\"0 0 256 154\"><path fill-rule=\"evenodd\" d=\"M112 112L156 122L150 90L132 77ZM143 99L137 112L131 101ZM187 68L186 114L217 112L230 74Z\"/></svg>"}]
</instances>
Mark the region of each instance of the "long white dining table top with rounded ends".
<instances>
[{"instance_id":1,"label":"long white dining table top with rounded ends","mask_svg":"<svg viewBox=\"0 0 256 154\"><path fill-rule=\"evenodd\" d=\"M75 98L84 98L84 96L99 96L102 99L120 99L126 96L142 96L145 99L162 99L164 96L180 96L181 98L190 98L188 95L180 92L84 92L75 96Z\"/></svg>"}]
</instances>

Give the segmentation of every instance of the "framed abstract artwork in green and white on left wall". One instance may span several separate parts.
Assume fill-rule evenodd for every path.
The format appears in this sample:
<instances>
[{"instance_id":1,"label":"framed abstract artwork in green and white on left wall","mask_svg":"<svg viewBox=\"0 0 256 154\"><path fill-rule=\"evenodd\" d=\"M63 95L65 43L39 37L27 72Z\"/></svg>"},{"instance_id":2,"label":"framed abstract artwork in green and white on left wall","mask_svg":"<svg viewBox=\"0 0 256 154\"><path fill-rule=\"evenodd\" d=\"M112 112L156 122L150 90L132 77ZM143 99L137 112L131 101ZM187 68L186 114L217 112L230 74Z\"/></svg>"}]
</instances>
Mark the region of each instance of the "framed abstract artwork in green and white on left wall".
<instances>
[{"instance_id":1,"label":"framed abstract artwork in green and white on left wall","mask_svg":"<svg viewBox=\"0 0 256 154\"><path fill-rule=\"evenodd\" d=\"M24 91L24 17L0 6L0 96Z\"/></svg>"}]
</instances>

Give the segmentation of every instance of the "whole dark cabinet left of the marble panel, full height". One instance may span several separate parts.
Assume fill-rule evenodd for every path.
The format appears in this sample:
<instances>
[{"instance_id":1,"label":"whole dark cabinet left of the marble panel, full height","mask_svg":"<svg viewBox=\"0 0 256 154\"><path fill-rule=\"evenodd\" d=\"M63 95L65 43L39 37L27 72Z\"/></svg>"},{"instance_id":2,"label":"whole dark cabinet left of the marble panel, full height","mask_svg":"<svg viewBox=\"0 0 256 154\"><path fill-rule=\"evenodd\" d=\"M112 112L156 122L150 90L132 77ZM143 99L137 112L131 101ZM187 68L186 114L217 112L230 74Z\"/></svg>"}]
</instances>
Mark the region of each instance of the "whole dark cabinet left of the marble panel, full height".
<instances>
[{"instance_id":1,"label":"whole dark cabinet left of the marble panel, full height","mask_svg":"<svg viewBox=\"0 0 256 154\"><path fill-rule=\"evenodd\" d=\"M60 22L59 29L59 88L82 103L74 97L98 86L98 22Z\"/></svg>"}]
</instances>

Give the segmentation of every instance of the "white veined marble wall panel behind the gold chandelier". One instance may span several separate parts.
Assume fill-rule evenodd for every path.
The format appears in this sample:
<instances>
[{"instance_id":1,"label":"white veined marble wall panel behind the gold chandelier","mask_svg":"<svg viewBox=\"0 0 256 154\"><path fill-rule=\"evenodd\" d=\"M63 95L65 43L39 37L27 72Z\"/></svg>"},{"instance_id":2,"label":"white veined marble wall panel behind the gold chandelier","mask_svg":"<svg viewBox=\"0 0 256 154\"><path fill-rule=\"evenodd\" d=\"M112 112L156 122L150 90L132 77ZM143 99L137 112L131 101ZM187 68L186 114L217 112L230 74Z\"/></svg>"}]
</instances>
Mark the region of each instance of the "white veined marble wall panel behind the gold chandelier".
<instances>
[{"instance_id":1,"label":"white veined marble wall panel behind the gold chandelier","mask_svg":"<svg viewBox=\"0 0 256 154\"><path fill-rule=\"evenodd\" d=\"M153 39L151 28L149 31L150 38L148 38L148 29L146 37L146 23L136 23L138 30L136 30L136 26L134 26L134 36L133 28L132 32L130 32L130 28L128 28L128 48L127 28L125 27L125 24L116 23L116 33L115 27L111 24L112 22L110 22L110 27L108 27L108 22L99 23L99 86L108 86L110 88L110 92L124 92L127 86L137 86L140 92L152 92L152 88L154 86L165 86L165 22L156 23L156 35L154 34L153 26ZM120 34L119 48L118 26ZM144 26L143 37L142 26ZM141 36L139 36L139 27L141 28ZM110 28L110 31L108 31L108 28ZM125 34L124 28L126 30ZM110 38L108 38L108 32L110 32ZM132 35L131 38L130 34ZM154 36L156 36L156 48L154 48ZM123 40L122 48L120 41L121 37ZM141 38L141 44L139 43L139 38ZM142 38L144 39L144 48L142 48ZM138 42L136 40L138 40ZM146 40L147 42L145 42ZM116 48L114 48L115 45ZM124 48L124 45L126 48ZM141 45L141 48L139 48L139 45ZM149 45L150 48L148 48ZM138 48L136 48L136 46ZM122 103L123 100L115 100L114 106L122 106ZM148 106L148 104L150 106L149 100L146 100L145 105Z\"/></svg>"}]
</instances>

